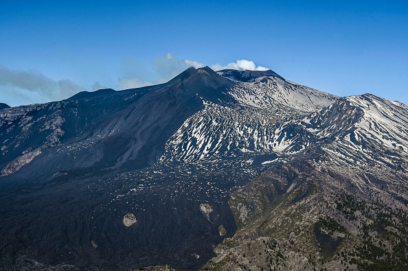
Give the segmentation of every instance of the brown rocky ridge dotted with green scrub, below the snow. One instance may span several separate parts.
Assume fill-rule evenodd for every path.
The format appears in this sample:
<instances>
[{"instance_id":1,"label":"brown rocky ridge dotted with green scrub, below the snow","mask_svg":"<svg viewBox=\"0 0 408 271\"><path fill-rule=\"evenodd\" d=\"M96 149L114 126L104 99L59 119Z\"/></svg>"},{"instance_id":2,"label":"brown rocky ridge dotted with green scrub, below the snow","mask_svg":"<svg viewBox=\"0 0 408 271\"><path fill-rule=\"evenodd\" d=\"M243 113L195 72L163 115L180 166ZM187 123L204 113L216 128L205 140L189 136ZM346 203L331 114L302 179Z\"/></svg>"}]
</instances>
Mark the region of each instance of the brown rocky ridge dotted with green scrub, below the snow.
<instances>
[{"instance_id":1,"label":"brown rocky ridge dotted with green scrub, below the snow","mask_svg":"<svg viewBox=\"0 0 408 271\"><path fill-rule=\"evenodd\" d=\"M277 164L233 193L237 234L203 270L404 270L406 172L396 177L327 158Z\"/></svg>"}]
</instances>

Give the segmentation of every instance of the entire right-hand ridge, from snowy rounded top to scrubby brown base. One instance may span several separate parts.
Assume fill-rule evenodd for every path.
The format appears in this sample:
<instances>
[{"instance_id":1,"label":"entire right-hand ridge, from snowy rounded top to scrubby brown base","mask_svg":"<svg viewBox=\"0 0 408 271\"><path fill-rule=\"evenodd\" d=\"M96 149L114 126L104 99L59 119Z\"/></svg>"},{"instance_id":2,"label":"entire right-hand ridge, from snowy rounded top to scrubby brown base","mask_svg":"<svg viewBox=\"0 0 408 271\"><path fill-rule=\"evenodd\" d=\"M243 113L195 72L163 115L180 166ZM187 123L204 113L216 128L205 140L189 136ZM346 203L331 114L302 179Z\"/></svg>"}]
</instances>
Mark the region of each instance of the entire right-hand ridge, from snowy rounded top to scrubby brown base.
<instances>
[{"instance_id":1,"label":"entire right-hand ridge, from snowy rounded top to scrubby brown base","mask_svg":"<svg viewBox=\"0 0 408 271\"><path fill-rule=\"evenodd\" d=\"M405 270L405 108L361 95L304 117L313 148L233 193L238 232L204 269Z\"/></svg>"}]
</instances>

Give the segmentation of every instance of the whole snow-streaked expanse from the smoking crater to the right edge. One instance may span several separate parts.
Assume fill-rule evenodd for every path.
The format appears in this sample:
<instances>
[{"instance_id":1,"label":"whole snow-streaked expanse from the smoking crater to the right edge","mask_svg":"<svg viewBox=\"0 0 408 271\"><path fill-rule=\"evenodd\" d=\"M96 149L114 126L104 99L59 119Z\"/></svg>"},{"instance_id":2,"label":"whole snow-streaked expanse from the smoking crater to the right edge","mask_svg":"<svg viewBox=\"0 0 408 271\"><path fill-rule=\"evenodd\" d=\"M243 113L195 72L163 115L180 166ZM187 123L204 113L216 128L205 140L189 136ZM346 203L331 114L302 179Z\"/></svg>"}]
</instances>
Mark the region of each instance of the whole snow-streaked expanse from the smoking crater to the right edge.
<instances>
[{"instance_id":1,"label":"whole snow-streaked expanse from the smoking crater to the right edge","mask_svg":"<svg viewBox=\"0 0 408 271\"><path fill-rule=\"evenodd\" d=\"M374 95L336 97L284 80L273 71L218 74L236 82L228 91L236 102L203 99L205 108L167 141L161 161L290 156L317 145L347 163L394 163L394 152L407 155L404 104ZM386 151L388 158L380 153Z\"/></svg>"}]
</instances>

